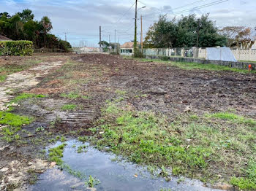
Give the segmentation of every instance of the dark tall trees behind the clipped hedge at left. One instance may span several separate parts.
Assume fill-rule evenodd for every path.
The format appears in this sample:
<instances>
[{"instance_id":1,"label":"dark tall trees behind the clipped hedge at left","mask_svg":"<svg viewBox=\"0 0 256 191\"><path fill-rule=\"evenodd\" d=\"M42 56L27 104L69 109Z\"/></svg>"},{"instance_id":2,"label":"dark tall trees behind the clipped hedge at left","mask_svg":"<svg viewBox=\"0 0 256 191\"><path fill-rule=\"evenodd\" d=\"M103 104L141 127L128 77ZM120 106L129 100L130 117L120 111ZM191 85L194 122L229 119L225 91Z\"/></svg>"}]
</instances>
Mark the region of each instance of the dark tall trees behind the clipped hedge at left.
<instances>
[{"instance_id":1,"label":"dark tall trees behind the clipped hedge at left","mask_svg":"<svg viewBox=\"0 0 256 191\"><path fill-rule=\"evenodd\" d=\"M35 48L50 48L68 50L71 48L69 42L63 41L53 34L50 18L42 17L34 20L34 14L30 9L23 9L15 15L8 12L0 13L0 34L12 40L32 41Z\"/></svg>"}]
</instances>

